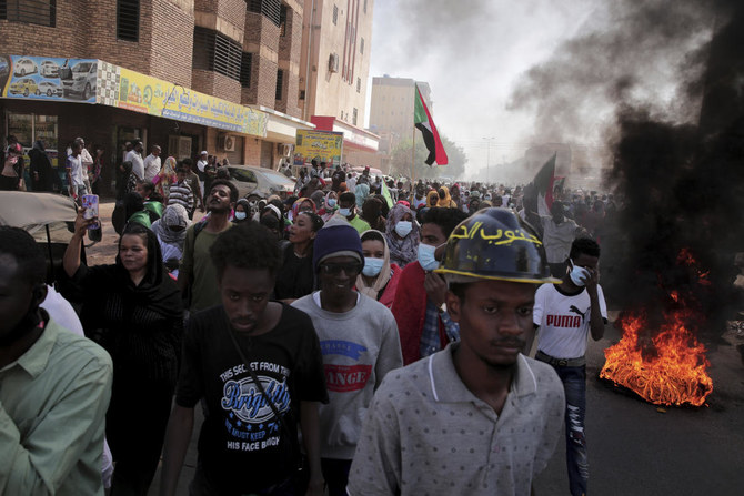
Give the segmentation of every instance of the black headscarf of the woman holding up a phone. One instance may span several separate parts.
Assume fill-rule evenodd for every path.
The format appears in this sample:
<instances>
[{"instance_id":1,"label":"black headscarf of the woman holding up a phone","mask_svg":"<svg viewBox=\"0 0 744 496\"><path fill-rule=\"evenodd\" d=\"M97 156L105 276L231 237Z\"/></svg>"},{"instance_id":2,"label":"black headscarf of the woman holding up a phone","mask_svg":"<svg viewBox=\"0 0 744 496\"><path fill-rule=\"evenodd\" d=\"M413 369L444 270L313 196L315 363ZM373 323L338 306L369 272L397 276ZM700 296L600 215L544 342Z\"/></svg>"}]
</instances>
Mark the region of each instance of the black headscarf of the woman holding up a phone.
<instances>
[{"instance_id":1,"label":"black headscarf of the woman holding up a phone","mask_svg":"<svg viewBox=\"0 0 744 496\"><path fill-rule=\"evenodd\" d=\"M147 301L148 307L161 315L169 318L183 318L183 307L180 305L180 290L165 275L160 243L158 243L155 233L140 224L129 224L119 239L119 250L121 250L121 240L127 234L147 235L148 272L142 282L134 286L129 272L124 269L121 257L117 253L115 272L119 277L125 281L124 291Z\"/></svg>"}]
</instances>

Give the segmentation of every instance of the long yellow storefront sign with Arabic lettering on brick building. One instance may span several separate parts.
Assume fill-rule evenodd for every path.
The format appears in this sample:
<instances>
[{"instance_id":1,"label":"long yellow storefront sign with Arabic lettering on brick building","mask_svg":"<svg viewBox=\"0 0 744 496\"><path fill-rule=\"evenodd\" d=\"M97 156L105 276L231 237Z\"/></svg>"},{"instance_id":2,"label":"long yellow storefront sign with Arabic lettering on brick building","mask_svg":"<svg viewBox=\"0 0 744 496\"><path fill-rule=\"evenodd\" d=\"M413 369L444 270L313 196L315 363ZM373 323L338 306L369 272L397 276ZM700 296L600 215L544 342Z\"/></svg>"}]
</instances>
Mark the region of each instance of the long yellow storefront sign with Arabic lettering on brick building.
<instances>
[{"instance_id":1,"label":"long yellow storefront sign with Arabic lettering on brick building","mask_svg":"<svg viewBox=\"0 0 744 496\"><path fill-rule=\"evenodd\" d=\"M99 103L264 138L267 114L180 84L102 63Z\"/></svg>"}]
</instances>

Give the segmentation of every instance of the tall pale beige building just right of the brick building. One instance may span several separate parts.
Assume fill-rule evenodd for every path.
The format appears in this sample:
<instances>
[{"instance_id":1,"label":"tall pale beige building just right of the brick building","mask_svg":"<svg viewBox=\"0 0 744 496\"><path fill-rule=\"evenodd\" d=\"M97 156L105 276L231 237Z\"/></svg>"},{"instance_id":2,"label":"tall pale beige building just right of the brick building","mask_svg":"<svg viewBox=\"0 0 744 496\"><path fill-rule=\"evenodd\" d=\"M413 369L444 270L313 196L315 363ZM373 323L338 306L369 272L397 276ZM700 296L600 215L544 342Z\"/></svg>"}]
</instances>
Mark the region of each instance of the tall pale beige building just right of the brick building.
<instances>
[{"instance_id":1,"label":"tall pale beige building just right of the brick building","mask_svg":"<svg viewBox=\"0 0 744 496\"><path fill-rule=\"evenodd\" d=\"M304 0L302 119L341 132L344 162L363 165L379 136L364 130L373 0Z\"/></svg>"}]
</instances>

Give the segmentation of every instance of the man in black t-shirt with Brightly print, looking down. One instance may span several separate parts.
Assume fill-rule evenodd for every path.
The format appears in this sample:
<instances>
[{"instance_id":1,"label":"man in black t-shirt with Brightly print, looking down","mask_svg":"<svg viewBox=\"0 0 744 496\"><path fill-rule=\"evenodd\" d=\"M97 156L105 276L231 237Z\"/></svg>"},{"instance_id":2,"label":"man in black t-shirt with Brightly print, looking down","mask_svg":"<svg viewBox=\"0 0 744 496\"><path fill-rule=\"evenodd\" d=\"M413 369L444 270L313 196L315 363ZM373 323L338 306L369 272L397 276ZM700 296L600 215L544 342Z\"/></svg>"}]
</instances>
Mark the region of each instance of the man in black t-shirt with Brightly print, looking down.
<instances>
[{"instance_id":1,"label":"man in black t-shirt with Brightly print, looking down","mask_svg":"<svg viewBox=\"0 0 744 496\"><path fill-rule=\"evenodd\" d=\"M299 422L309 494L322 495L318 402L328 403L328 393L320 344L306 314L269 301L281 264L277 242L261 225L239 225L221 233L210 254L222 304L194 314L187 326L160 494L175 493L201 401L191 494L304 494L292 487Z\"/></svg>"}]
</instances>

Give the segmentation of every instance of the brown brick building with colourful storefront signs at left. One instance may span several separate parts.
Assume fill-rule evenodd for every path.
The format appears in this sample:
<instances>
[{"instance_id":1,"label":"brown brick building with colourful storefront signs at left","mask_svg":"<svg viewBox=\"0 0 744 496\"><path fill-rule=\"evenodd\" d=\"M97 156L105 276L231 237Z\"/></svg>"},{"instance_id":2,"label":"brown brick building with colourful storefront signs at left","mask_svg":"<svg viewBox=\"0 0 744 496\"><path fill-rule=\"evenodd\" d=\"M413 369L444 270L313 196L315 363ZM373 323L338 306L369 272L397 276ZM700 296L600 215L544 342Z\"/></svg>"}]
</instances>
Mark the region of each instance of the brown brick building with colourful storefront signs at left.
<instances>
[{"instance_id":1,"label":"brown brick building with colourful storefront signs at left","mask_svg":"<svg viewBox=\"0 0 744 496\"><path fill-rule=\"evenodd\" d=\"M26 149L43 139L52 155L83 136L107 165L139 138L163 156L275 168L296 130L314 129L300 102L303 11L300 0L0 1L0 131Z\"/></svg>"}]
</instances>

